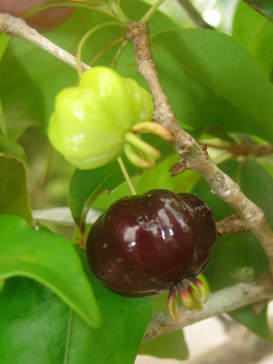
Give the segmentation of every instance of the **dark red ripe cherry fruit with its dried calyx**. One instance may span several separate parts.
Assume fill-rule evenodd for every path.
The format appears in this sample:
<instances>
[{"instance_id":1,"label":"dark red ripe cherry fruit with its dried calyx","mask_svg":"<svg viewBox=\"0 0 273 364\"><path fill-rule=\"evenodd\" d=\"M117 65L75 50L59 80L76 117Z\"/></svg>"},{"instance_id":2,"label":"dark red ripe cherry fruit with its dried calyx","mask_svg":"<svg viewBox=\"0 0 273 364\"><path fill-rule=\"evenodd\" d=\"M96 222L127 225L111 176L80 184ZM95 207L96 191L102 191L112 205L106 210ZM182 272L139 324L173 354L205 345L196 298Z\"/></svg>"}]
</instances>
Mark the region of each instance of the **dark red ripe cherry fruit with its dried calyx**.
<instances>
[{"instance_id":1,"label":"dark red ripe cherry fruit with its dried calyx","mask_svg":"<svg viewBox=\"0 0 273 364\"><path fill-rule=\"evenodd\" d=\"M216 240L211 209L199 197L154 189L113 203L92 226L87 258L108 288L129 297L169 291L169 310L177 319L176 292L184 306L201 310L206 293L202 272Z\"/></svg>"}]
</instances>

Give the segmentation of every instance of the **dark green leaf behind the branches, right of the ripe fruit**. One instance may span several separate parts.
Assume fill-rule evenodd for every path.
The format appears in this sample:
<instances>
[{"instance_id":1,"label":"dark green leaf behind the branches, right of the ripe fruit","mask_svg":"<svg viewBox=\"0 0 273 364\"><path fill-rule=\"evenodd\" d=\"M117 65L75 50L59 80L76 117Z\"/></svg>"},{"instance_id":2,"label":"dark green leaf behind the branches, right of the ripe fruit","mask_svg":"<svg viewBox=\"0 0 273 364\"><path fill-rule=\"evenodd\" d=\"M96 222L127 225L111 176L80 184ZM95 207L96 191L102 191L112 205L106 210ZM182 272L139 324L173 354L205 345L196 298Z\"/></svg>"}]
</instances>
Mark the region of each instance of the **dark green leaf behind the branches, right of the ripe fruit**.
<instances>
[{"instance_id":1,"label":"dark green leaf behind the branches, right of the ripe fruit","mask_svg":"<svg viewBox=\"0 0 273 364\"><path fill-rule=\"evenodd\" d=\"M242 163L225 162L220 167L239 183L250 200L263 209L268 223L273 227L273 210L271 200L268 198L273 194L273 180L266 171L251 158ZM234 213L232 208L211 194L209 186L203 180L196 184L193 193L208 203L217 221ZM217 291L241 281L249 281L265 273L267 269L266 255L254 235L250 232L237 233L217 239L212 250L211 262L204 275L211 290ZM255 315L251 307L244 307L238 312L235 311L234 315L230 313L230 316L238 319L257 335L269 338L271 334L263 314Z\"/></svg>"}]
</instances>

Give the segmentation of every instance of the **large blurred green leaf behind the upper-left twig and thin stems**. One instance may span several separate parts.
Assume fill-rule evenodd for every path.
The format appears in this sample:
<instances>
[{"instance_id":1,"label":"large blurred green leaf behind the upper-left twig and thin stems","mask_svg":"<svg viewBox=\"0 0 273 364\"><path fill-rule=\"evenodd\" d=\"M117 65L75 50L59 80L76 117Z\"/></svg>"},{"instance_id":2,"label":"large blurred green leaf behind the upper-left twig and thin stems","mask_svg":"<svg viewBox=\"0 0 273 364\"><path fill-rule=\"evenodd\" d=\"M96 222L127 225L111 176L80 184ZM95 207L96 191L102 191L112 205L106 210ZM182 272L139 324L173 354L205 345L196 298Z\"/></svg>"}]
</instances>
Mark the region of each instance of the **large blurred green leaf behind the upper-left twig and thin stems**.
<instances>
[{"instance_id":1,"label":"large blurred green leaf behind the upper-left twig and thin stems","mask_svg":"<svg viewBox=\"0 0 273 364\"><path fill-rule=\"evenodd\" d=\"M124 12L138 20L149 8L135 0L123 2ZM81 37L93 26L113 20L111 17L96 11L80 9L57 29L46 36L58 46L72 54L76 53ZM174 23L167 16L157 12L151 20L152 31L172 29ZM98 53L114 40L124 35L119 27L104 27L95 32L82 50L82 60L90 62ZM119 47L115 45L104 52L95 65L110 66ZM136 76L134 53L130 53L126 62L131 64ZM57 93L74 86L78 80L77 72L56 59L51 54L30 42L13 38L0 62L0 96L8 125L8 134L18 136L25 127L38 123L43 131L47 130L49 117L54 110Z\"/></svg>"}]
</instances>

